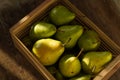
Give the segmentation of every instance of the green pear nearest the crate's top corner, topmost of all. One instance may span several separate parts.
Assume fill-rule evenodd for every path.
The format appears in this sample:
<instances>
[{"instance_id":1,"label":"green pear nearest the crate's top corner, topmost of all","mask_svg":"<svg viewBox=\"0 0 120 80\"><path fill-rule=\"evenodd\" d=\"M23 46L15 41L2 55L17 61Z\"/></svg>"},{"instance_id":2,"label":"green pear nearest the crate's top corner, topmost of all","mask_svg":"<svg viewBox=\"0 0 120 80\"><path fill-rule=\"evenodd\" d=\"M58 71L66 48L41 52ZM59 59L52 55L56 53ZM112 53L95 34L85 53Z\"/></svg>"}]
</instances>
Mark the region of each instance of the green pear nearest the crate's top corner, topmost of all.
<instances>
[{"instance_id":1,"label":"green pear nearest the crate's top corner, topmost of all","mask_svg":"<svg viewBox=\"0 0 120 80\"><path fill-rule=\"evenodd\" d=\"M67 24L75 18L75 14L63 5L55 6L49 13L51 21L56 25Z\"/></svg>"}]
</instances>

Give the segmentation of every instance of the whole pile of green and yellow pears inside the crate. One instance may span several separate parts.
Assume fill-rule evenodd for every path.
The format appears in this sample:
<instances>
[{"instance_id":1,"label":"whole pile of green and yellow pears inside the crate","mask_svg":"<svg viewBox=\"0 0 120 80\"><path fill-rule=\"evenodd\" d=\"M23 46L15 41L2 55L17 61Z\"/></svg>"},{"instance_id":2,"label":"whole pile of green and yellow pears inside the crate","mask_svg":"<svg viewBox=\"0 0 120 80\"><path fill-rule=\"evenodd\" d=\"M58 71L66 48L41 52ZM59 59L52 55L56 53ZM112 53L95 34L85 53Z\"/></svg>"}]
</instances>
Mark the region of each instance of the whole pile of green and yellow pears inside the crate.
<instances>
[{"instance_id":1,"label":"whole pile of green and yellow pears inside the crate","mask_svg":"<svg viewBox=\"0 0 120 80\"><path fill-rule=\"evenodd\" d=\"M57 5L22 39L56 80L91 80L111 61L97 32L74 22L76 14ZM73 23L73 24L72 24Z\"/></svg>"}]
</instances>

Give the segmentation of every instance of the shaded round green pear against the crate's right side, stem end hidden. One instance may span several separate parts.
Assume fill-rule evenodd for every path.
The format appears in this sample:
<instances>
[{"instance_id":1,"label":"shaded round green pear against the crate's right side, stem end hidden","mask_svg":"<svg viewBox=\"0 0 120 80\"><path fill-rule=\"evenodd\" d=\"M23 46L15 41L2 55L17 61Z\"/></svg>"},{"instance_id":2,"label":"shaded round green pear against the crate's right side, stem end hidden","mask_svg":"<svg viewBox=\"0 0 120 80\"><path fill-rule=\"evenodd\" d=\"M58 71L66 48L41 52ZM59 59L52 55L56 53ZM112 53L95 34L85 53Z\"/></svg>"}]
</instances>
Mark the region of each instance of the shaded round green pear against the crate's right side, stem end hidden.
<instances>
[{"instance_id":1,"label":"shaded round green pear against the crate's right side, stem end hidden","mask_svg":"<svg viewBox=\"0 0 120 80\"><path fill-rule=\"evenodd\" d=\"M85 51L98 49L100 43L99 35L93 30L86 30L78 40L78 46Z\"/></svg>"}]
</instances>

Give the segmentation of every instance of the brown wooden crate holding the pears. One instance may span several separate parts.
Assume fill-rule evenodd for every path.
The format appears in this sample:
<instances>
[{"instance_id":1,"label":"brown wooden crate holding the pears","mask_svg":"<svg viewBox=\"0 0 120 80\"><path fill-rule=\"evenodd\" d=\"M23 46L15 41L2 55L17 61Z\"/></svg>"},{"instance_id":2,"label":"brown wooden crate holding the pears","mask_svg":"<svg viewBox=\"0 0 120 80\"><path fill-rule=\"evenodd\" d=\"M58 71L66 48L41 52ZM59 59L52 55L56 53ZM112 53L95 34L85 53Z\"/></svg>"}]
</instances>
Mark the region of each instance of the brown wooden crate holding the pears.
<instances>
[{"instance_id":1,"label":"brown wooden crate holding the pears","mask_svg":"<svg viewBox=\"0 0 120 80\"><path fill-rule=\"evenodd\" d=\"M41 5L34 9L31 13L26 15L11 29L11 37L13 39L16 48L30 61L30 63L40 72L40 74L46 80L55 80L55 78L47 71L47 69L38 61L38 59L32 54L32 52L22 43L21 38L28 34L30 25L37 20L43 19L54 6L62 4L69 10L76 14L76 20L87 26L87 28L95 30L101 40L102 50L108 50L113 53L112 61L94 77L93 80L108 80L115 71L120 67L120 47L117 46L104 32L102 32L91 20L89 20L80 10L78 10L69 0L45 0Z\"/></svg>"}]
</instances>

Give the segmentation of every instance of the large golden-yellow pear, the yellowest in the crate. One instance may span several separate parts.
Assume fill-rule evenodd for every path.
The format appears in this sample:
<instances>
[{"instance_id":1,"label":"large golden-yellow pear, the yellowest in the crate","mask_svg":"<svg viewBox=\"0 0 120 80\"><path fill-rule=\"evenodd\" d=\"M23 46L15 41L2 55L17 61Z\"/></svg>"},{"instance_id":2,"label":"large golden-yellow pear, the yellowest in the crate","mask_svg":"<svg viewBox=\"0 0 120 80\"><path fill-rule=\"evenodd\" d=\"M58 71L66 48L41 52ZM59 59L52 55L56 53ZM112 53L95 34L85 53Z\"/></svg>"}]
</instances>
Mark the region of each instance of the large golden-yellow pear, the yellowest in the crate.
<instances>
[{"instance_id":1,"label":"large golden-yellow pear, the yellowest in the crate","mask_svg":"<svg viewBox=\"0 0 120 80\"><path fill-rule=\"evenodd\" d=\"M57 62L64 52L64 46L61 41L54 39L40 39L35 42L32 52L38 57L39 61L50 66Z\"/></svg>"}]
</instances>

